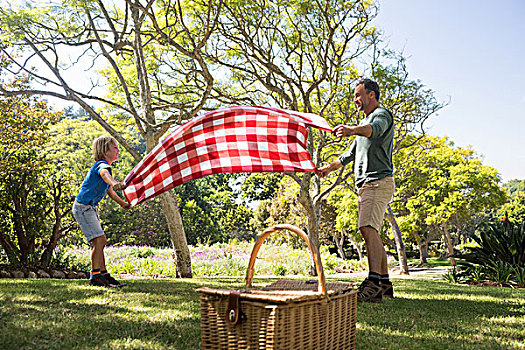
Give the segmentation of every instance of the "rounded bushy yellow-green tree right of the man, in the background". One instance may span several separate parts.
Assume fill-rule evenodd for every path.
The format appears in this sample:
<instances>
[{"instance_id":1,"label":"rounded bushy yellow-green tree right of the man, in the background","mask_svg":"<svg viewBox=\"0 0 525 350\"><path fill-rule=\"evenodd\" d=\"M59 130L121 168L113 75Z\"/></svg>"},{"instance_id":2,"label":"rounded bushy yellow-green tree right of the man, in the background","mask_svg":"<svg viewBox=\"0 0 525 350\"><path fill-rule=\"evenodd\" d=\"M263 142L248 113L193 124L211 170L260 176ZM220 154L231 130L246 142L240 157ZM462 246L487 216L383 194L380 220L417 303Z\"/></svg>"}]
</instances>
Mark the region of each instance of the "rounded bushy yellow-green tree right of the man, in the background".
<instances>
[{"instance_id":1,"label":"rounded bushy yellow-green tree right of the man, in the background","mask_svg":"<svg viewBox=\"0 0 525 350\"><path fill-rule=\"evenodd\" d=\"M443 236L448 256L453 256L451 232L456 231L458 239L465 225L475 225L480 213L505 201L496 169L447 138L424 137L403 149L395 163L398 190L393 207L402 230L416 240L422 262L433 237Z\"/></svg>"}]
</instances>

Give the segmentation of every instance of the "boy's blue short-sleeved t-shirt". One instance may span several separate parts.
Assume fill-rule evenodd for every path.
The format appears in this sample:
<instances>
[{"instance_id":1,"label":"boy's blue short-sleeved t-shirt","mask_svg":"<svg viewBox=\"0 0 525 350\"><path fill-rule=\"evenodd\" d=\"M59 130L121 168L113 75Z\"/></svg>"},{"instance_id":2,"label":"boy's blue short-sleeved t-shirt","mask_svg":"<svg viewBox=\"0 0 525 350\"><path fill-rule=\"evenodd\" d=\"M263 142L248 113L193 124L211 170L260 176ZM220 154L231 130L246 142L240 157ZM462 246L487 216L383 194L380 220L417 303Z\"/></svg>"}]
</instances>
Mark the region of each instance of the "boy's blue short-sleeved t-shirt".
<instances>
[{"instance_id":1,"label":"boy's blue short-sleeved t-shirt","mask_svg":"<svg viewBox=\"0 0 525 350\"><path fill-rule=\"evenodd\" d=\"M76 201L85 205L92 205L96 207L98 202L104 198L106 193L109 191L109 185L100 176L102 169L108 169L111 176L111 166L105 160L99 160L93 164L91 169L86 175L80 192L76 197Z\"/></svg>"}]
</instances>

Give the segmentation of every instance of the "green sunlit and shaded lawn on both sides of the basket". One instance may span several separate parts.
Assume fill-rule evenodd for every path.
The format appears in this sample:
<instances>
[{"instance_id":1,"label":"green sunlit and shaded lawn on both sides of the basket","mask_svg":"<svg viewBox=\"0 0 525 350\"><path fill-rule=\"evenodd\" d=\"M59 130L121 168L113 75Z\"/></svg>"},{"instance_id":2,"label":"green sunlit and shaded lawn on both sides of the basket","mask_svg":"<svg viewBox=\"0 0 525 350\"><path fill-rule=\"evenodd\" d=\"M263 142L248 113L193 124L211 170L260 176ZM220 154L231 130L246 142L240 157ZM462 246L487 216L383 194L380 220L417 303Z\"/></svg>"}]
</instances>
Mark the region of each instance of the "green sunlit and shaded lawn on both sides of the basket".
<instances>
[{"instance_id":1,"label":"green sunlit and shaded lawn on both sides of the basket","mask_svg":"<svg viewBox=\"0 0 525 350\"><path fill-rule=\"evenodd\" d=\"M195 289L243 285L220 278L127 282L112 290L86 281L0 280L0 348L199 349ZM525 349L525 290L394 283L395 299L358 304L358 349Z\"/></svg>"}]
</instances>

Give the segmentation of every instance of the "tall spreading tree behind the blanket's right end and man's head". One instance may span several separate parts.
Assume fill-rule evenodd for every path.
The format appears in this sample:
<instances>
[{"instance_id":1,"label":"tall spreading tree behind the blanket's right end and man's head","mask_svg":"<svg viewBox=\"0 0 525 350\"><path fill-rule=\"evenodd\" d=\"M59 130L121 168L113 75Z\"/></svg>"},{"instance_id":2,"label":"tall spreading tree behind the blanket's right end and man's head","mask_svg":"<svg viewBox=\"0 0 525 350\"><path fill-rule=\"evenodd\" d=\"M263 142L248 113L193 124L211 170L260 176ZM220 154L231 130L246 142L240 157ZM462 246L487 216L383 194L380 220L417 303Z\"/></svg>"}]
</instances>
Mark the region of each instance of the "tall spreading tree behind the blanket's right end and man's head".
<instances>
[{"instance_id":1,"label":"tall spreading tree behind the blanket's right end and man's head","mask_svg":"<svg viewBox=\"0 0 525 350\"><path fill-rule=\"evenodd\" d=\"M226 15L219 18L218 35L208 50L210 60L228 73L214 85L215 98L316 113L331 125L361 120L352 103L351 83L366 73L357 70L356 62L374 53L380 37L372 26L374 2L261 0L226 1L224 6ZM382 66L373 55L368 73L389 85L385 101L387 107L395 107L399 140L421 127L442 104L432 91L407 79L399 57L385 57L395 65ZM310 132L307 144L317 166L333 160L347 145L317 130ZM312 173L287 175L299 185L297 198L307 217L307 232L318 247L321 201L337 185L353 185L347 181L351 171L342 169L322 181Z\"/></svg>"}]
</instances>

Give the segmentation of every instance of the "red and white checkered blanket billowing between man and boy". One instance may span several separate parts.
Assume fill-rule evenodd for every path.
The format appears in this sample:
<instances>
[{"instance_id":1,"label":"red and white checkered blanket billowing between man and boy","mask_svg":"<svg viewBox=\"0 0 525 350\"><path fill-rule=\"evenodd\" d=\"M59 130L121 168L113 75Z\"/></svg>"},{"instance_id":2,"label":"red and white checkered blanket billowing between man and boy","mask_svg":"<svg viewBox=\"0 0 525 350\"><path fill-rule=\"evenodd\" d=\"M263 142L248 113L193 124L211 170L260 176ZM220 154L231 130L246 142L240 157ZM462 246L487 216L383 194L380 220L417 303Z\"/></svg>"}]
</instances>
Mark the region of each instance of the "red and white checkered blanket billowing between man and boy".
<instances>
[{"instance_id":1,"label":"red and white checkered blanket billowing between man and boy","mask_svg":"<svg viewBox=\"0 0 525 350\"><path fill-rule=\"evenodd\" d=\"M309 113L259 106L218 109L179 126L126 176L133 206L185 182L218 173L315 171L308 126L332 131Z\"/></svg>"}]
</instances>

